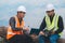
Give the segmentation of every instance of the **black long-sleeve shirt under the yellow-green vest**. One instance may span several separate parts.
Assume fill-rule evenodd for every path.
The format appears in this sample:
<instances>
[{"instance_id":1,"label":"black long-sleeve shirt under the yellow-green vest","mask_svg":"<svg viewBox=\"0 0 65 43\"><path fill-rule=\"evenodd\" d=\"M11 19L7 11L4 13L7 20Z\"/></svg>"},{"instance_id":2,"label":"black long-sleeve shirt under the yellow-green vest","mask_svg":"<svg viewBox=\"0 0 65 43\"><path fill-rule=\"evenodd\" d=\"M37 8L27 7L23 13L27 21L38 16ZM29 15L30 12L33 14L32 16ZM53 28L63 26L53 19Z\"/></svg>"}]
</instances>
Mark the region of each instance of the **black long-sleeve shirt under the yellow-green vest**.
<instances>
[{"instance_id":1,"label":"black long-sleeve shirt under the yellow-green vest","mask_svg":"<svg viewBox=\"0 0 65 43\"><path fill-rule=\"evenodd\" d=\"M54 16L53 17L49 16L49 17L52 23ZM44 17L40 25L40 31L42 31L46 27L47 27L47 24L46 24L46 17ZM63 18L61 16L58 16L57 27L58 29L55 31L55 33L61 33L64 29Z\"/></svg>"}]
</instances>

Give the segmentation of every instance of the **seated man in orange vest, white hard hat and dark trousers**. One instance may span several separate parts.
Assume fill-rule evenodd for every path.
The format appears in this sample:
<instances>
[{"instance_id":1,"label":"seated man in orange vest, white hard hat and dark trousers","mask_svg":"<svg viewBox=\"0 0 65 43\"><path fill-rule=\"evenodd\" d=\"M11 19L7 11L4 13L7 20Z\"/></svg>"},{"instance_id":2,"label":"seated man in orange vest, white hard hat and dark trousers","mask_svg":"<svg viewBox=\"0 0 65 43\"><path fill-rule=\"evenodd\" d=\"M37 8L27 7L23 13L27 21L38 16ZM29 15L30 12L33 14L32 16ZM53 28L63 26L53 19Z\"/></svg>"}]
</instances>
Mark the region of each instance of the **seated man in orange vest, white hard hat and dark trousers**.
<instances>
[{"instance_id":1,"label":"seated man in orange vest, white hard hat and dark trousers","mask_svg":"<svg viewBox=\"0 0 65 43\"><path fill-rule=\"evenodd\" d=\"M24 32L28 31L25 28L24 17L26 14L26 8L21 5L17 9L17 15L10 18L10 26L8 28L6 40L9 43L30 43L30 37L26 35Z\"/></svg>"}]
</instances>

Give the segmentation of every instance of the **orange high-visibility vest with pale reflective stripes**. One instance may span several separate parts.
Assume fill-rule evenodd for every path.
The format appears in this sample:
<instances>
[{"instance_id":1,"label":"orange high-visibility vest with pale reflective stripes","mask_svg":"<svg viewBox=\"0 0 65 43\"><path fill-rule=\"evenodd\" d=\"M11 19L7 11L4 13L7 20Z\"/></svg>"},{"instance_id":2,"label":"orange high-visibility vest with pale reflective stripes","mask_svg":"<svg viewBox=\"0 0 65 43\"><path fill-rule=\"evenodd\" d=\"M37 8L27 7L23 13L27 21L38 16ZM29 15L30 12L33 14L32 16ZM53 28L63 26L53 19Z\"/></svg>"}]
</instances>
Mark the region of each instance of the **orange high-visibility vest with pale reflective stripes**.
<instances>
[{"instance_id":1,"label":"orange high-visibility vest with pale reflective stripes","mask_svg":"<svg viewBox=\"0 0 65 43\"><path fill-rule=\"evenodd\" d=\"M17 18L17 16L14 16L15 18L15 28L24 28L25 24L24 24L24 20L22 20L22 24L20 25L20 20ZM8 33L6 33L6 39L11 39L13 35L15 34L23 34L23 31L20 30L20 31L13 31L11 26L9 26L8 28Z\"/></svg>"}]
</instances>

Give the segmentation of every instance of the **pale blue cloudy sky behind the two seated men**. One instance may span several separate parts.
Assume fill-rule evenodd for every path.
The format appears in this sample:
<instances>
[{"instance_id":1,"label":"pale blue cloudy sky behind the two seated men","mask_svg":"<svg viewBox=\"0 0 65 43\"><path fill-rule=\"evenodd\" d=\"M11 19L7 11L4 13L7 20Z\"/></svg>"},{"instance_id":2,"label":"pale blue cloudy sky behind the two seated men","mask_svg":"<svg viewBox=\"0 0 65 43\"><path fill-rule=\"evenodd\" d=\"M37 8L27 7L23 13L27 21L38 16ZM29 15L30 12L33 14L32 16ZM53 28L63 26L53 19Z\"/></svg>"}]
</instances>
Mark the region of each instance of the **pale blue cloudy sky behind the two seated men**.
<instances>
[{"instance_id":1,"label":"pale blue cloudy sky behind the two seated men","mask_svg":"<svg viewBox=\"0 0 65 43\"><path fill-rule=\"evenodd\" d=\"M65 24L65 0L0 0L0 26L9 26L10 17L16 15L20 5L24 5L26 27L39 28L49 3L54 4L55 13L63 17Z\"/></svg>"}]
</instances>

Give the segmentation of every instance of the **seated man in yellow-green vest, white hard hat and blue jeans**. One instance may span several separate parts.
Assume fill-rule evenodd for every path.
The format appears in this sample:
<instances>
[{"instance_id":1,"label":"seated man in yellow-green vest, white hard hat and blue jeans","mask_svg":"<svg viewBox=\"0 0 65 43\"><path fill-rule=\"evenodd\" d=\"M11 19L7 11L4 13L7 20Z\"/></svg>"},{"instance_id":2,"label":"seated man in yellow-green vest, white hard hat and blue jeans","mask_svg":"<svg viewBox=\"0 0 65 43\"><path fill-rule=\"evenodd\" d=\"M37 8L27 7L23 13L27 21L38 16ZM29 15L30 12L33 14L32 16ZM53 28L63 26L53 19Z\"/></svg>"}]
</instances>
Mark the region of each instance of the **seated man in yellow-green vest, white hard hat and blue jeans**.
<instances>
[{"instance_id":1,"label":"seated man in yellow-green vest, white hard hat and blue jeans","mask_svg":"<svg viewBox=\"0 0 65 43\"><path fill-rule=\"evenodd\" d=\"M57 43L57 40L61 37L61 32L64 29L63 18L58 16L54 12L54 10L55 9L53 4L47 5L47 10L46 10L47 15L44 16L40 26L41 35L39 37L39 43L46 43L46 39L48 39L50 43ZM48 31L51 30L51 34L48 37L46 37L46 32L44 32L46 29Z\"/></svg>"}]
</instances>

